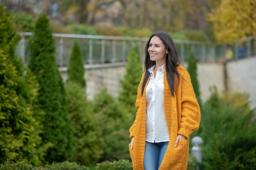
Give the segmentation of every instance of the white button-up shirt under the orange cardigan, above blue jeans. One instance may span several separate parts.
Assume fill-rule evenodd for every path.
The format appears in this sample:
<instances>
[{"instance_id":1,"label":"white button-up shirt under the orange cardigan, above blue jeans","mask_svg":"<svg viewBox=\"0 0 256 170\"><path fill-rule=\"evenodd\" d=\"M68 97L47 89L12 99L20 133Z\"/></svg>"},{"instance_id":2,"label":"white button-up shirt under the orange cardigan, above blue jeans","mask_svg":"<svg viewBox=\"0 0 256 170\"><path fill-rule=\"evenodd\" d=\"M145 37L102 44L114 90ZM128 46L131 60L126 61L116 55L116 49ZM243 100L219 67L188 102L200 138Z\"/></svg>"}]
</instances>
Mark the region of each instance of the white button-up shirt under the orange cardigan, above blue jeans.
<instances>
[{"instance_id":1,"label":"white button-up shirt under the orange cardigan, above blue jeans","mask_svg":"<svg viewBox=\"0 0 256 170\"><path fill-rule=\"evenodd\" d=\"M169 133L164 113L164 67L155 66L148 69L151 76L146 87L146 141L169 141Z\"/></svg>"}]
</instances>

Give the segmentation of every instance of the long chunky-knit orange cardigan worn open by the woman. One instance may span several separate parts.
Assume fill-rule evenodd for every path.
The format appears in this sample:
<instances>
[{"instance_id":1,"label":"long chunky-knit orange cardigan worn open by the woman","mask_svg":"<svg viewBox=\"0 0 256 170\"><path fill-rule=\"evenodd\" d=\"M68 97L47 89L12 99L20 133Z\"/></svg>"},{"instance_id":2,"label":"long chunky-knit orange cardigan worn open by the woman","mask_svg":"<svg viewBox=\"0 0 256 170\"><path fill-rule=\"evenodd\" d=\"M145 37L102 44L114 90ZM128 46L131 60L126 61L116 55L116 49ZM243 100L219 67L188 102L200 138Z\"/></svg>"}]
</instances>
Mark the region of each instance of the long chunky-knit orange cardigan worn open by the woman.
<instances>
[{"instance_id":1,"label":"long chunky-knit orange cardigan worn open by the woman","mask_svg":"<svg viewBox=\"0 0 256 170\"><path fill-rule=\"evenodd\" d=\"M171 95L164 71L164 111L168 126L170 141L159 170L186 170L189 156L189 135L198 129L200 124L200 107L195 98L189 73L184 66L177 66L180 73L180 84L175 88L175 96ZM133 148L129 151L133 170L144 170L144 152L146 139L146 86L141 96L141 85L145 72L137 89L137 108L134 124L130 127L130 138L134 137ZM149 80L149 79L148 79ZM175 76L177 84L177 76ZM183 135L186 140L180 140L174 148L177 135Z\"/></svg>"}]
</instances>

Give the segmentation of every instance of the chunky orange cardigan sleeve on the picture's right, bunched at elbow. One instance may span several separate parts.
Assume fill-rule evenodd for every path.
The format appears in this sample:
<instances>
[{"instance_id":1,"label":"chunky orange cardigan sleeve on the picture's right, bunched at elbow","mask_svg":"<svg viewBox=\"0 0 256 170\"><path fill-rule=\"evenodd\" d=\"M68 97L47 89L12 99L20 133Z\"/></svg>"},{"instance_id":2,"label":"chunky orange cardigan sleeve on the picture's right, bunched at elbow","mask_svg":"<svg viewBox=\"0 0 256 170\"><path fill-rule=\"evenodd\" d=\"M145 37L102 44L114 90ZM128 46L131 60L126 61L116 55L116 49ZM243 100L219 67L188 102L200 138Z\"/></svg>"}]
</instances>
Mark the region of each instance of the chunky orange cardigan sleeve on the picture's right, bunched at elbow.
<instances>
[{"instance_id":1,"label":"chunky orange cardigan sleeve on the picture's right, bunched at elbow","mask_svg":"<svg viewBox=\"0 0 256 170\"><path fill-rule=\"evenodd\" d=\"M178 134L189 138L189 135L197 130L200 124L200 107L191 84L189 73L184 70L181 81L181 123Z\"/></svg>"}]
</instances>

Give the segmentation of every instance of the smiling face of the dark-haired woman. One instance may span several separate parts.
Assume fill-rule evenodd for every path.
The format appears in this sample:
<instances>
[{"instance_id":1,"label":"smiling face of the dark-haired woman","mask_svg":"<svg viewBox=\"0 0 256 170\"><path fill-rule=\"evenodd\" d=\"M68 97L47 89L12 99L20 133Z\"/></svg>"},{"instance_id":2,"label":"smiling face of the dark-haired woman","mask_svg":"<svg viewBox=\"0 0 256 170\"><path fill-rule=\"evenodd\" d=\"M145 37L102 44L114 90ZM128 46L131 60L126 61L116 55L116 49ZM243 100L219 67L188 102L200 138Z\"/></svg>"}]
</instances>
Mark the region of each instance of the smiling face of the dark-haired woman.
<instances>
[{"instance_id":1,"label":"smiling face of the dark-haired woman","mask_svg":"<svg viewBox=\"0 0 256 170\"><path fill-rule=\"evenodd\" d=\"M156 66L162 66L166 62L168 53L164 43L159 37L153 36L149 42L148 53L151 61L155 61Z\"/></svg>"}]
</instances>

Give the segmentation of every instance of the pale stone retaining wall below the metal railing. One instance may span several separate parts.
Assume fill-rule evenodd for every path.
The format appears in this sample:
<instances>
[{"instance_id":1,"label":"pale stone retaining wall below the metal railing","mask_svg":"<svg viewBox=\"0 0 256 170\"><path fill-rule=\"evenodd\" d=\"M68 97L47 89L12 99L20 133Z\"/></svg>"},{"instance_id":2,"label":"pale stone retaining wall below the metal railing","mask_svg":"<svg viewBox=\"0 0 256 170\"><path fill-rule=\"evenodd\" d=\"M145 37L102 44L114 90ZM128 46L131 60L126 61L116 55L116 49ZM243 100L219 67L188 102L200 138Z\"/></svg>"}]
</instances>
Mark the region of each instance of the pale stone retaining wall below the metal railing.
<instances>
[{"instance_id":1,"label":"pale stone retaining wall below the metal railing","mask_svg":"<svg viewBox=\"0 0 256 170\"><path fill-rule=\"evenodd\" d=\"M186 67L186 63L182 63ZM228 62L227 88L229 91L249 93L251 106L256 107L256 57ZM120 79L125 75L125 63L112 65L85 66L88 99L99 93L102 88L118 96L121 90ZM60 70L63 80L67 79L66 69ZM216 86L219 92L225 90L225 69L222 63L198 63L198 82L201 99L211 95L210 88ZM142 74L142 71L141 71Z\"/></svg>"}]
</instances>

